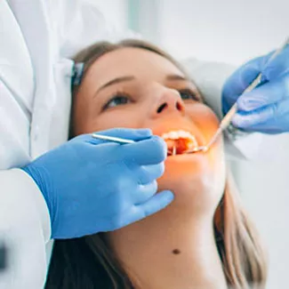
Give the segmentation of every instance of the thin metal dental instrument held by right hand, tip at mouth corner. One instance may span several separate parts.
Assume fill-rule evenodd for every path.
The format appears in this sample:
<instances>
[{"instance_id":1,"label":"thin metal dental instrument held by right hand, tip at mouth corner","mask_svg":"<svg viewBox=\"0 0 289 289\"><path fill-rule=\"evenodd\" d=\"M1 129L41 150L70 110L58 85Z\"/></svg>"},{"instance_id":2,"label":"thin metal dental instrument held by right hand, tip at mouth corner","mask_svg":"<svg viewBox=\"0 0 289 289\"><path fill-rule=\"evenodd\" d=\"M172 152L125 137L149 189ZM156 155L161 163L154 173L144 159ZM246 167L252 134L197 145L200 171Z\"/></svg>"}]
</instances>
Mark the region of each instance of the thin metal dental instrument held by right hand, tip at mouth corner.
<instances>
[{"instance_id":1,"label":"thin metal dental instrument held by right hand, tip at mouth corner","mask_svg":"<svg viewBox=\"0 0 289 289\"><path fill-rule=\"evenodd\" d=\"M287 46L287 44L289 44L289 37L286 38L285 40L285 43L282 44L282 46L280 46L276 52L274 52L271 57L269 58L267 64L275 59L277 57L277 55L281 52L283 52L283 50L285 49L285 47ZM253 83L250 84L243 93L245 92L251 92L253 91L253 89L261 83L261 76L262 74L260 73L254 80L253 80ZM235 104L229 109L228 113L226 116L223 117L223 119L221 120L221 123L220 123L220 126L217 130L217 132L215 132L213 134L213 137L212 139L208 142L208 144L206 146L200 146L200 147L197 147L197 148L194 148L194 149L188 149L186 150L184 153L196 153L196 152L199 152L199 151L203 151L203 152L206 152L208 149L210 149L210 147L213 145L213 142L215 140L218 139L218 137L220 136L221 132L223 132L230 124L230 121L232 119L232 117L236 114L237 112L237 102L235 102Z\"/></svg>"}]
</instances>

